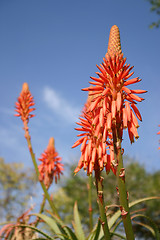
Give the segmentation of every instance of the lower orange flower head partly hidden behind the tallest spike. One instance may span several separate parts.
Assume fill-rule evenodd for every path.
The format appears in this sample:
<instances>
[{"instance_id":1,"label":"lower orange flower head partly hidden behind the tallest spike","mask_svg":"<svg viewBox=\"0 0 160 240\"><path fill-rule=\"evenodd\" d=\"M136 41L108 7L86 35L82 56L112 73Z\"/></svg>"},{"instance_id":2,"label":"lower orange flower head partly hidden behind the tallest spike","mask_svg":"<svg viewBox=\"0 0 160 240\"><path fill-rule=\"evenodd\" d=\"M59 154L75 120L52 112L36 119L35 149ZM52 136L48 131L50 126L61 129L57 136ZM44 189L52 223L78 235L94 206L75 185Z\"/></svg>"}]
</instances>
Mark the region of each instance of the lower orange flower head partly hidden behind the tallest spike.
<instances>
[{"instance_id":1,"label":"lower orange flower head partly hidden behind the tallest spike","mask_svg":"<svg viewBox=\"0 0 160 240\"><path fill-rule=\"evenodd\" d=\"M96 109L96 111L88 111L90 106L90 97L85 105L82 116L77 122L81 127L75 128L83 133L78 134L78 139L72 148L81 144L81 158L78 166L75 169L77 173L81 168L87 170L87 174L92 171L103 170L109 173L110 169L116 174L116 166L114 165L113 142L111 133L107 132L107 127L103 127L104 116L103 109ZM108 136L108 149L106 149L106 139ZM108 152L107 152L108 150ZM110 154L109 154L110 152Z\"/></svg>"}]
</instances>

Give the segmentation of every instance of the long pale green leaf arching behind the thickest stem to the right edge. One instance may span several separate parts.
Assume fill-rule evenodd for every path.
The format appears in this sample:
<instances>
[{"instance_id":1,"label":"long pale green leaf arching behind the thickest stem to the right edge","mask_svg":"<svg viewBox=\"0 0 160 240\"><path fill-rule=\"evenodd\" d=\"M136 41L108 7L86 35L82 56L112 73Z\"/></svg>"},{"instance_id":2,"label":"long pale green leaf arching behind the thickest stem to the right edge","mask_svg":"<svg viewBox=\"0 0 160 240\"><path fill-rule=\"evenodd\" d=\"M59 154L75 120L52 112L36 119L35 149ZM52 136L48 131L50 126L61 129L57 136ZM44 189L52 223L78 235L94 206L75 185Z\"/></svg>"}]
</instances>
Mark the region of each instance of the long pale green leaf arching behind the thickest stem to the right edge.
<instances>
[{"instance_id":1,"label":"long pale green leaf arching behind the thickest stem to the right edge","mask_svg":"<svg viewBox=\"0 0 160 240\"><path fill-rule=\"evenodd\" d=\"M154 200L154 199L160 199L160 197L147 197L147 198L141 198L138 199L136 201L133 201L131 203L129 203L129 208L135 206L138 203L144 202L144 201L149 201L149 200ZM109 207L109 206L107 206ZM111 229L113 227L113 225L115 224L115 222L118 220L118 218L121 216L121 211L118 210L109 220L108 220L108 226L109 229Z\"/></svg>"}]
</instances>

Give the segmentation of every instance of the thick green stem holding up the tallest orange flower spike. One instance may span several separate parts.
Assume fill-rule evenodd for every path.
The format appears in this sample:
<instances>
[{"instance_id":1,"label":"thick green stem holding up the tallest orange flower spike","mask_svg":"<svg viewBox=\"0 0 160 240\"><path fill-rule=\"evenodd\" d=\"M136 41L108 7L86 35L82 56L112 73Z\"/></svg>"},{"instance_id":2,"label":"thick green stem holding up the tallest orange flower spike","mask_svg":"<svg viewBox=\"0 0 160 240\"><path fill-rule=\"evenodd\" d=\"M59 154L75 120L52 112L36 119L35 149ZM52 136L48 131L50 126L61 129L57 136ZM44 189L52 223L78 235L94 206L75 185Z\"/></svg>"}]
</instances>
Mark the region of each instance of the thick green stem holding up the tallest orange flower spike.
<instances>
[{"instance_id":1,"label":"thick green stem holding up the tallest orange flower spike","mask_svg":"<svg viewBox=\"0 0 160 240\"><path fill-rule=\"evenodd\" d=\"M118 164L117 166L117 183L118 183L118 194L120 209L122 212L122 221L128 240L134 240L134 232L132 228L132 222L130 217L130 210L128 205L128 192L126 190L125 183L125 169L123 166L123 157L121 149L121 139L117 136L117 133L112 130L113 133L113 146L114 146L114 157L115 161Z\"/></svg>"}]
</instances>

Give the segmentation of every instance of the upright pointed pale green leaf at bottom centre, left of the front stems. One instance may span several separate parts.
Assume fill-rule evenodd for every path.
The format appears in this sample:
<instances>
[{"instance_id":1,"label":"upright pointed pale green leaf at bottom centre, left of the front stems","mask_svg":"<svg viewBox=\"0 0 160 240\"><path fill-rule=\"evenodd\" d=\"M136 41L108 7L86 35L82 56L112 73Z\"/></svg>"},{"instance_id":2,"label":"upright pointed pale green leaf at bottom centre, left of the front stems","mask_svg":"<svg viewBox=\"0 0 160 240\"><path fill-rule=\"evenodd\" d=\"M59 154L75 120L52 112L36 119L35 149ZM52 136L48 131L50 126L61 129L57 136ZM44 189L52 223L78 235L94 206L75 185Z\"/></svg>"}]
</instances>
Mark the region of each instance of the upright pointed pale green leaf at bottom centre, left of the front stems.
<instances>
[{"instance_id":1,"label":"upright pointed pale green leaf at bottom centre, left of the front stems","mask_svg":"<svg viewBox=\"0 0 160 240\"><path fill-rule=\"evenodd\" d=\"M73 227L75 229L76 236L79 240L85 240L85 235L82 229L82 224L81 224L81 220L78 212L77 202L75 202L74 204L73 215L74 215Z\"/></svg>"}]
</instances>

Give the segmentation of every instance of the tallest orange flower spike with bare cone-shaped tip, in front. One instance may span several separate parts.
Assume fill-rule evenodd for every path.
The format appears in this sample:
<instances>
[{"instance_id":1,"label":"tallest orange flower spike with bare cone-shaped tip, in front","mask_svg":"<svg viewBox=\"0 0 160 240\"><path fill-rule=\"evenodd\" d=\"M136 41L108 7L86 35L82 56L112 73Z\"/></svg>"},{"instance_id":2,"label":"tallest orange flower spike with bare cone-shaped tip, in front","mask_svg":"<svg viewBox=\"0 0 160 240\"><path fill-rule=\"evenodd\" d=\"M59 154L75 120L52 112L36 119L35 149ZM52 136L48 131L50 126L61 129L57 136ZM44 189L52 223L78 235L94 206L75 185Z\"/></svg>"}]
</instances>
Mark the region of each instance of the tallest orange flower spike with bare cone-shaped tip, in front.
<instances>
[{"instance_id":1,"label":"tallest orange flower spike with bare cone-shaped tip, in front","mask_svg":"<svg viewBox=\"0 0 160 240\"><path fill-rule=\"evenodd\" d=\"M137 102L144 100L137 94L145 93L145 90L131 90L129 85L141 81L138 77L129 79L133 72L133 67L126 64L121 51L119 29L116 25L111 28L108 52L103 59L103 63L97 66L98 78L91 77L93 85L84 91L92 91L92 103L89 111L96 111L97 108L103 109L104 125L108 130L118 129L118 135L122 139L123 129L128 128L131 143L137 139L137 128L139 127L137 118L141 121L142 117L137 108Z\"/></svg>"}]
</instances>

